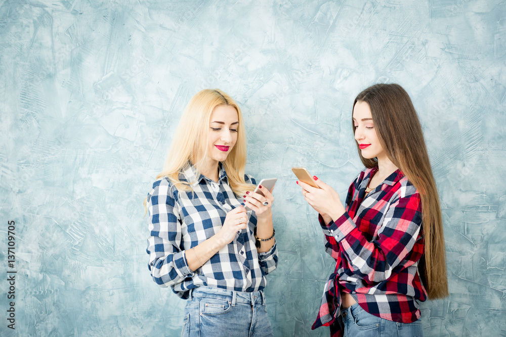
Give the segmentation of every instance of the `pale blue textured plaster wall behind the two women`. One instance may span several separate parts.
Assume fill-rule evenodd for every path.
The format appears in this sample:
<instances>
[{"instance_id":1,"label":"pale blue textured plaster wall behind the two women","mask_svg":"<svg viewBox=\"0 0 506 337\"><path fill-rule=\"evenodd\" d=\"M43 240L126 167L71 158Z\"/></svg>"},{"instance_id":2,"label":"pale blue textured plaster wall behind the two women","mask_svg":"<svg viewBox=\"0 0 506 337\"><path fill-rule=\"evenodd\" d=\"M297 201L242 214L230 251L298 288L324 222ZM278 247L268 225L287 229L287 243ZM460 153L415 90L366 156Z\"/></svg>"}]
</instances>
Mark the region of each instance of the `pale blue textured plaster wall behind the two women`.
<instances>
[{"instance_id":1,"label":"pale blue textured plaster wall behind the two women","mask_svg":"<svg viewBox=\"0 0 506 337\"><path fill-rule=\"evenodd\" d=\"M504 1L0 1L0 334L179 335L151 280L142 201L199 89L243 109L247 171L278 177L277 336L311 331L333 269L290 168L344 199L355 95L403 85L441 194L451 296L427 336L506 335ZM16 330L7 221L16 221Z\"/></svg>"}]
</instances>

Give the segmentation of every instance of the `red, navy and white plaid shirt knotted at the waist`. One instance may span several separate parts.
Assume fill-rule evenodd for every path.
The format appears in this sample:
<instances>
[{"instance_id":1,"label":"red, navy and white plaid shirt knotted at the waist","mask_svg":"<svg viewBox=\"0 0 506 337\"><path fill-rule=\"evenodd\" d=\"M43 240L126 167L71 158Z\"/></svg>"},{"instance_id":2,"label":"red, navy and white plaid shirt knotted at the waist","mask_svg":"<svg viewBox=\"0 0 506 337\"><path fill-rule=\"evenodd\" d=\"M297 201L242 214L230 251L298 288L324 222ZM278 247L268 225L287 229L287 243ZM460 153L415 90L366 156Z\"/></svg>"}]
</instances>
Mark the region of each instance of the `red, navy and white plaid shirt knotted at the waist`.
<instances>
[{"instance_id":1,"label":"red, navy and white plaid shirt knotted at the waist","mask_svg":"<svg viewBox=\"0 0 506 337\"><path fill-rule=\"evenodd\" d=\"M364 168L353 181L337 221L326 226L319 216L325 250L336 265L312 329L330 326L332 337L343 335L336 319L342 292L368 313L403 323L417 320L417 301L427 299L417 271L424 253L418 190L397 170L366 195L373 172Z\"/></svg>"}]
</instances>

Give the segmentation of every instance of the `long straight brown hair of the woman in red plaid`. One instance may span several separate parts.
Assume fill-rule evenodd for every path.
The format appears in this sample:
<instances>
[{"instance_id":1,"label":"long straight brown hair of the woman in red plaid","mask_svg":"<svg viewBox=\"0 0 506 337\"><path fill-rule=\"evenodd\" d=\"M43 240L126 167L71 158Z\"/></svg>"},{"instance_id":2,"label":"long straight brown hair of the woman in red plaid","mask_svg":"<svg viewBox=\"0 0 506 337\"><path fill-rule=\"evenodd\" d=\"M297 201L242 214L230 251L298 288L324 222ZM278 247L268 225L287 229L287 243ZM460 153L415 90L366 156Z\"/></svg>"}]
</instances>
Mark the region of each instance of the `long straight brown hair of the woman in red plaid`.
<instances>
[{"instance_id":1,"label":"long straight brown hair of the woman in red plaid","mask_svg":"<svg viewBox=\"0 0 506 337\"><path fill-rule=\"evenodd\" d=\"M408 93L398 84L376 84L360 92L353 102L365 102L371 110L374 128L387 157L418 189L425 238L425 254L420 260L420 275L431 299L448 296L443 220L438 191L425 145L420 121ZM352 120L352 126L354 123ZM374 159L362 157L368 167Z\"/></svg>"}]
</instances>

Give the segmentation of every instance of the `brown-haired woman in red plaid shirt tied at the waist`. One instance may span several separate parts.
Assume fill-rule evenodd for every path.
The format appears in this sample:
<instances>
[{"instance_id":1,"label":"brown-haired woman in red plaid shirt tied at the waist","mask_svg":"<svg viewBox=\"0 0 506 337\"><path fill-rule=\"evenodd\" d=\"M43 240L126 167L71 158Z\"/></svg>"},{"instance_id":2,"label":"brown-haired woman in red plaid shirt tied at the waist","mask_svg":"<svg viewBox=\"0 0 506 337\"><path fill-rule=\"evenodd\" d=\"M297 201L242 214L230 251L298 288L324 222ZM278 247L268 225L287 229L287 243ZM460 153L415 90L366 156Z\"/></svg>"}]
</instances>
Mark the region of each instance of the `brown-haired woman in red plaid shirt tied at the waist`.
<instances>
[{"instance_id":1,"label":"brown-haired woman in red plaid shirt tied at the waist","mask_svg":"<svg viewBox=\"0 0 506 337\"><path fill-rule=\"evenodd\" d=\"M336 261L313 329L332 336L422 336L418 301L448 295L441 209L424 135L397 84L373 85L353 104L365 168L346 205L316 176L298 181Z\"/></svg>"}]
</instances>

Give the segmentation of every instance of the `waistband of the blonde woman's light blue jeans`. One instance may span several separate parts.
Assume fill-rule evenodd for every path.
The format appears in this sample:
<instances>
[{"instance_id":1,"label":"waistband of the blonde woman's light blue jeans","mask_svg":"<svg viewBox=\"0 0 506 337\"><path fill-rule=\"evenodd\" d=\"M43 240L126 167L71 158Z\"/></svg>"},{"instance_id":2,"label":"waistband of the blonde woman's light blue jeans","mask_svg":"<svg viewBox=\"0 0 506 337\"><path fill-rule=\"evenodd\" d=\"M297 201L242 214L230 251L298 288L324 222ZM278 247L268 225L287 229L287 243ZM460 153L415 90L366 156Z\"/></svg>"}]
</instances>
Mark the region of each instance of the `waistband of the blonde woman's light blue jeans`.
<instances>
[{"instance_id":1,"label":"waistband of the blonde woman's light blue jeans","mask_svg":"<svg viewBox=\"0 0 506 337\"><path fill-rule=\"evenodd\" d=\"M196 288L190 290L190 296L188 300L191 300L194 297L207 297L227 300L230 301L233 307L235 307L236 303L249 303L251 305L256 303L261 303L262 305L265 304L265 296L263 291L243 293L203 285L197 286Z\"/></svg>"}]
</instances>

